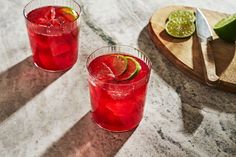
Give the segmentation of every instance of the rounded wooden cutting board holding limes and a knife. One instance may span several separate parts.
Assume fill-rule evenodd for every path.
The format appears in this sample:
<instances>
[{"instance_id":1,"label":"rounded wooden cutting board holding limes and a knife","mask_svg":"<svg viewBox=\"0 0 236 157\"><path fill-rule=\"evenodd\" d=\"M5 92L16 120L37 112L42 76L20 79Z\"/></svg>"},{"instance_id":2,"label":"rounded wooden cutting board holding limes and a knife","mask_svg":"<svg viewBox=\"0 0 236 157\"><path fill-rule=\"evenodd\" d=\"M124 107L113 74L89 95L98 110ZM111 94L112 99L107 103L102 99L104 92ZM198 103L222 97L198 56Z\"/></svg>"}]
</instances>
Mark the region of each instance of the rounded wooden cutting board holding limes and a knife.
<instances>
[{"instance_id":1,"label":"rounded wooden cutting board holding limes and a knife","mask_svg":"<svg viewBox=\"0 0 236 157\"><path fill-rule=\"evenodd\" d=\"M165 32L165 23L171 11L194 8L185 6L168 6L157 10L149 22L149 35L160 50L178 69L189 77L206 84L203 73L201 48L197 34L186 39L176 39ZM211 26L227 14L203 10ZM213 31L214 32L214 31ZM211 43L216 62L216 74L220 81L214 87L236 93L236 50L234 43L227 43L214 34Z\"/></svg>"}]
</instances>

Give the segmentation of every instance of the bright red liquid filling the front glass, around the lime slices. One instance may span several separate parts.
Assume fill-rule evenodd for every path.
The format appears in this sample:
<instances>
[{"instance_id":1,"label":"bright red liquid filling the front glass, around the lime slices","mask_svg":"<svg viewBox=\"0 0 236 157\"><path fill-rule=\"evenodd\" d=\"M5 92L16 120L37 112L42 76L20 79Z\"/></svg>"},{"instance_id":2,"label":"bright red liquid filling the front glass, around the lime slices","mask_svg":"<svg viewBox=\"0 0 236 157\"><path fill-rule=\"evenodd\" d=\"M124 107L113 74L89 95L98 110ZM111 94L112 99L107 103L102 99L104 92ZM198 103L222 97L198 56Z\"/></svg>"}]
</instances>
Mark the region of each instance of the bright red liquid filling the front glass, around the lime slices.
<instances>
[{"instance_id":1,"label":"bright red liquid filling the front glass, around the lime slices","mask_svg":"<svg viewBox=\"0 0 236 157\"><path fill-rule=\"evenodd\" d=\"M109 55L99 56L89 64L92 115L95 122L105 129L128 131L142 119L150 68L144 61L135 59L141 70L131 80L121 82L112 80L99 68L101 63L109 62ZM101 77L99 73L105 76Z\"/></svg>"}]
</instances>

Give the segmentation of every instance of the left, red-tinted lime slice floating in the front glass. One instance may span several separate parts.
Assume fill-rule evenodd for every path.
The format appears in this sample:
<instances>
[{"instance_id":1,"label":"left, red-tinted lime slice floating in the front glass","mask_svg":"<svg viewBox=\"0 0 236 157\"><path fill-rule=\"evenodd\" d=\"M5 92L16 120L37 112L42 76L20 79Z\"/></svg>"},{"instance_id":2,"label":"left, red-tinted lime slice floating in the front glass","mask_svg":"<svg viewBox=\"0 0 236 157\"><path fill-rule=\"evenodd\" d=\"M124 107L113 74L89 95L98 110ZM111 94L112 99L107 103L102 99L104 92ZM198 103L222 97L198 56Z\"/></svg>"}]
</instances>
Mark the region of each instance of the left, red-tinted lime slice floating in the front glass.
<instances>
[{"instance_id":1,"label":"left, red-tinted lime slice floating in the front glass","mask_svg":"<svg viewBox=\"0 0 236 157\"><path fill-rule=\"evenodd\" d=\"M127 62L126 57L122 55L110 55L107 58L106 64L115 76L119 76L126 71Z\"/></svg>"}]
</instances>

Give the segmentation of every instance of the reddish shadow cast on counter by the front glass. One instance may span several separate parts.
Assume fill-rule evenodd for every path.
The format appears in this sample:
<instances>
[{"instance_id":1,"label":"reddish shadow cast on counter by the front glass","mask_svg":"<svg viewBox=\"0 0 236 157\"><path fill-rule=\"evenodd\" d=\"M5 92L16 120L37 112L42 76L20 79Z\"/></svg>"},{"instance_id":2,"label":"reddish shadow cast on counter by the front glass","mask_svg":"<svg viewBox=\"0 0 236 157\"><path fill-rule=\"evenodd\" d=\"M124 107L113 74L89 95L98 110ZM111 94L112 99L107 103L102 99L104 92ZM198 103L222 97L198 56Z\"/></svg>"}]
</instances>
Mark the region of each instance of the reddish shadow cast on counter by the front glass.
<instances>
[{"instance_id":1,"label":"reddish shadow cast on counter by the front glass","mask_svg":"<svg viewBox=\"0 0 236 157\"><path fill-rule=\"evenodd\" d=\"M112 133L101 129L88 112L41 157L113 157L133 132Z\"/></svg>"}]
</instances>

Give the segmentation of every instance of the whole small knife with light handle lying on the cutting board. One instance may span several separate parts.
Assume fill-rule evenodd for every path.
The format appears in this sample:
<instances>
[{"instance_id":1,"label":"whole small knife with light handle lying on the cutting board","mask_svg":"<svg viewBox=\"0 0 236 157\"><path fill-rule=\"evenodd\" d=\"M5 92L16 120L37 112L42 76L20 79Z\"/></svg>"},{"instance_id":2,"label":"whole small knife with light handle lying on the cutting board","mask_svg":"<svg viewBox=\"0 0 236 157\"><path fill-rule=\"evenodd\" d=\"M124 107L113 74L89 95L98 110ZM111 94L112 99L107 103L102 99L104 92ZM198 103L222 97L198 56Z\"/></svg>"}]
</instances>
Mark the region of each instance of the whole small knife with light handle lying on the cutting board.
<instances>
[{"instance_id":1,"label":"whole small knife with light handle lying on the cutting board","mask_svg":"<svg viewBox=\"0 0 236 157\"><path fill-rule=\"evenodd\" d=\"M219 81L219 76L216 75L215 60L210 45L213 35L206 17L199 8L196 10L196 30L201 45L204 77L207 84L214 85Z\"/></svg>"}]
</instances>

